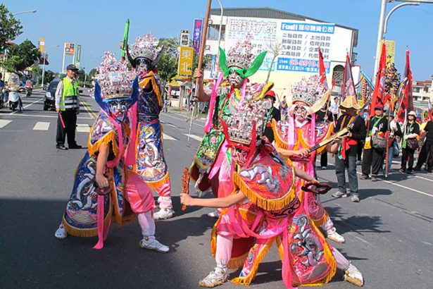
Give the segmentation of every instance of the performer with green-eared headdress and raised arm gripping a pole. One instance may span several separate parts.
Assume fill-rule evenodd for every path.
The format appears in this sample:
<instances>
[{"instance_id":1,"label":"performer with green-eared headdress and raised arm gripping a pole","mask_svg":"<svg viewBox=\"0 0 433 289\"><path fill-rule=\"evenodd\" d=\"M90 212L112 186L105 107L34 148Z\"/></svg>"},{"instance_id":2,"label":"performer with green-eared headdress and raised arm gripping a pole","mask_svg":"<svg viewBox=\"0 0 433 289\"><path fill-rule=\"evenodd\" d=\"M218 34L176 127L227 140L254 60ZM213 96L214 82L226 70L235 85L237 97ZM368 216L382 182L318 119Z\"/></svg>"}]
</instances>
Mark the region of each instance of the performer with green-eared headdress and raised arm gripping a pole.
<instances>
[{"instance_id":1,"label":"performer with green-eared headdress and raised arm gripping a pole","mask_svg":"<svg viewBox=\"0 0 433 289\"><path fill-rule=\"evenodd\" d=\"M249 91L257 85L249 84L249 77L257 72L266 51L258 56L253 54L251 38L239 40L227 53L220 48L220 69L218 80L210 93L203 89L203 75L194 72L194 78L199 80L199 102L210 102L208 118L204 128L204 137L194 156L191 166L191 176L196 181L196 189L205 192L212 187L213 195L223 197L230 193L230 173L224 166L227 158L227 142L222 133L221 121L227 121L232 111L237 111L239 101L245 98ZM230 152L228 152L230 156ZM209 216L218 217L218 211Z\"/></svg>"}]
</instances>

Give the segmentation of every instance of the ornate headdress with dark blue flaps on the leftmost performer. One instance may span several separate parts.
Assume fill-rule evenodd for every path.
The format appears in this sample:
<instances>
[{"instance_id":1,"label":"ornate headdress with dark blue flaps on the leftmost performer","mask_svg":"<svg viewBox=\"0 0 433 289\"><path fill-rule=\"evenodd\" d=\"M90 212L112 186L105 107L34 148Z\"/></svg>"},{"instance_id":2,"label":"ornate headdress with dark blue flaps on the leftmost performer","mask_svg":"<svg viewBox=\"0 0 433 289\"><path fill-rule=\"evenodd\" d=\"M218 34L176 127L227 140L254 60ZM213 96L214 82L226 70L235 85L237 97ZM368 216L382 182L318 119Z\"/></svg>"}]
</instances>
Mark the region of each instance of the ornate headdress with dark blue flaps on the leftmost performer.
<instances>
[{"instance_id":1,"label":"ornate headdress with dark blue flaps on the leftmost performer","mask_svg":"<svg viewBox=\"0 0 433 289\"><path fill-rule=\"evenodd\" d=\"M106 103L113 100L126 100L131 105L137 101L138 79L134 80L134 73L127 70L125 61L117 61L113 52L106 51L96 69L94 96L101 109L105 110Z\"/></svg>"}]
</instances>

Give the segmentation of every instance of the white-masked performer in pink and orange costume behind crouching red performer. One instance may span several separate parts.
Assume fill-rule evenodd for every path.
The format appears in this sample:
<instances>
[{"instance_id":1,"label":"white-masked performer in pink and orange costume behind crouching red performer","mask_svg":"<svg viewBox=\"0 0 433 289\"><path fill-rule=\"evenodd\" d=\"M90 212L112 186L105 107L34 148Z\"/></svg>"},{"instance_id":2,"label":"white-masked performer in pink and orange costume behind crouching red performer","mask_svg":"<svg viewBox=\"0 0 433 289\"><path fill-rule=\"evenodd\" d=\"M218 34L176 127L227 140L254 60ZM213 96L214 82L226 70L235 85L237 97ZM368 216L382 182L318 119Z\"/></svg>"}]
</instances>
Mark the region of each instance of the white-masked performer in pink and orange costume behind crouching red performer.
<instances>
[{"instance_id":1,"label":"white-masked performer in pink and orange costume behind crouching red performer","mask_svg":"<svg viewBox=\"0 0 433 289\"><path fill-rule=\"evenodd\" d=\"M333 130L331 123L329 125L315 123L315 113L327 102L330 94L330 92L323 93L324 91L318 75L296 82L291 89L292 104L286 120L273 122L277 152L290 159L295 166L306 171L310 176L315 176L315 154L320 154L325 147L310 154L308 149L329 137ZM297 192L301 192L302 185L301 182L298 183ZM327 238L335 242L345 242L343 236L337 233L334 223L316 195L306 192L299 197L303 197L310 218L316 226L326 231Z\"/></svg>"}]
</instances>

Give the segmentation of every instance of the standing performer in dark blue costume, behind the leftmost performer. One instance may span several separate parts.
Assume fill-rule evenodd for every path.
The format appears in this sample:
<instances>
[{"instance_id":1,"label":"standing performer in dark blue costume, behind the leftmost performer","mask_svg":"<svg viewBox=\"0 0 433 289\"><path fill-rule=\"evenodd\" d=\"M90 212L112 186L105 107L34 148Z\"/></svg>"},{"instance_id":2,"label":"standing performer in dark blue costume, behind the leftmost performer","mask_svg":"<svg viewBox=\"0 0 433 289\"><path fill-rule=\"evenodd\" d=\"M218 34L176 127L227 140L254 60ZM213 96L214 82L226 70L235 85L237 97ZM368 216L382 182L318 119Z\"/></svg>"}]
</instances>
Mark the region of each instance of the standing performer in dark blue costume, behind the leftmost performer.
<instances>
[{"instance_id":1,"label":"standing performer in dark blue costume, behind the leftmost performer","mask_svg":"<svg viewBox=\"0 0 433 289\"><path fill-rule=\"evenodd\" d=\"M134 158L132 171L158 192L160 210L153 214L158 219L169 219L172 209L170 174L164 158L162 125L159 113L163 109L163 87L158 76L156 63L163 54L158 48L158 39L146 34L135 39L127 47L127 58L139 76L140 95L137 105L132 108L132 143L128 159Z\"/></svg>"}]
</instances>

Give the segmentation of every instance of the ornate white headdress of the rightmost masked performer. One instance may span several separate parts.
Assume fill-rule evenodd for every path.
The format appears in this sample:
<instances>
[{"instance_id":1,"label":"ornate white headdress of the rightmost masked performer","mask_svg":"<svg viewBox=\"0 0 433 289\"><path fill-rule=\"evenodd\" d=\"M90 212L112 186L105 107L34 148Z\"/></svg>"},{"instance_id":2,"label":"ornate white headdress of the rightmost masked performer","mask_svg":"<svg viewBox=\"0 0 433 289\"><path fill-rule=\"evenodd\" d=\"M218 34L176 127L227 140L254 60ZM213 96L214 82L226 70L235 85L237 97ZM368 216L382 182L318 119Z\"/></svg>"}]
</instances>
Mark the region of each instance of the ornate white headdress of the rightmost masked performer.
<instances>
[{"instance_id":1,"label":"ornate white headdress of the rightmost masked performer","mask_svg":"<svg viewBox=\"0 0 433 289\"><path fill-rule=\"evenodd\" d=\"M291 86L291 102L303 102L310 106L310 113L315 113L322 108L330 94L329 91L325 94L323 92L325 86L320 83L319 75L311 75L310 78L302 78Z\"/></svg>"}]
</instances>

